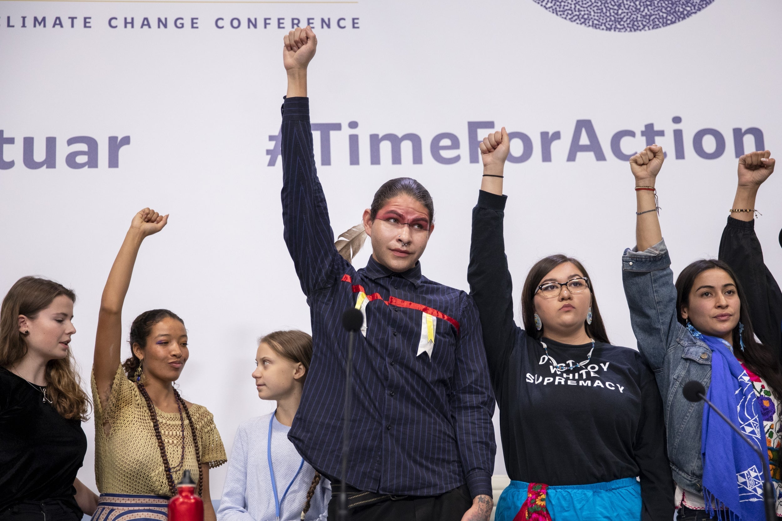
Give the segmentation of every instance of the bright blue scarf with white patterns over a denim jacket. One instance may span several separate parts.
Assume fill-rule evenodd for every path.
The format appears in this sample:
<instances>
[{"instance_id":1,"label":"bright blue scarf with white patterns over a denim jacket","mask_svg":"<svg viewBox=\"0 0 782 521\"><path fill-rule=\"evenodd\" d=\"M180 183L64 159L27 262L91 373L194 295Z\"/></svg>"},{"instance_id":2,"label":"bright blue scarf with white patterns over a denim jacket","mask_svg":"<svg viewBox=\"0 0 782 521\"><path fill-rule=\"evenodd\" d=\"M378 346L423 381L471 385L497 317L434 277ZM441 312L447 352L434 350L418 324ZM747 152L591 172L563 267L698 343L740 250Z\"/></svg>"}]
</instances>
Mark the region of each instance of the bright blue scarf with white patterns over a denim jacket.
<instances>
[{"instance_id":1,"label":"bright blue scarf with white patterns over a denim jacket","mask_svg":"<svg viewBox=\"0 0 782 521\"><path fill-rule=\"evenodd\" d=\"M730 351L730 344L704 334L694 336L712 349L712 383L706 398L766 454L758 398L747 372ZM705 403L701 456L703 498L709 516L731 521L766 519L763 468L758 455Z\"/></svg>"}]
</instances>

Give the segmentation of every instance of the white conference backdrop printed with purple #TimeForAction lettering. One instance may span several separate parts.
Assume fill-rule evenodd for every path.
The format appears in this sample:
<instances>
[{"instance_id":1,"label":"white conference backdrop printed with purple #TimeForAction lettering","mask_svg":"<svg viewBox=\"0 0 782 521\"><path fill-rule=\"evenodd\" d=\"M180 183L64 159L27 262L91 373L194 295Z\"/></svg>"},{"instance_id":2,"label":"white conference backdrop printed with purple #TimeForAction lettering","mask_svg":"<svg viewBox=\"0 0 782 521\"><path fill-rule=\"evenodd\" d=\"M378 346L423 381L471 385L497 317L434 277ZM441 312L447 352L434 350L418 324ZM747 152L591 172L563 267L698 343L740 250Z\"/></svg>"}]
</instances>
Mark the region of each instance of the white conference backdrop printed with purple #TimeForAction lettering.
<instances>
[{"instance_id":1,"label":"white conference backdrop printed with purple #TimeForAction lettering","mask_svg":"<svg viewBox=\"0 0 782 521\"><path fill-rule=\"evenodd\" d=\"M586 14L569 11L572 1L540 2L576 13L569 18L589 18L590 2L578 2ZM591 3L599 11L615 2ZM635 12L651 4L662 4L663 15L669 9L666 2L624 3L637 5ZM677 9L696 5L673 3ZM637 16L636 27L647 19L659 25L658 15ZM666 23L676 21L675 10L668 15ZM471 210L481 174L470 162L468 122L505 125L533 145L529 159L506 169L515 297L536 259L576 255L594 279L612 341L635 347L619 264L623 248L633 246L635 196L628 166L612 153L612 136L633 130L636 137L621 144L629 154L644 147L640 131L648 123L665 131L653 141L669 152L658 193L673 268L716 256L734 194L733 129L758 128L766 148L776 155L782 150L782 4L717 0L680 23L640 32L627 31L618 16L605 22L619 29L612 31L565 20L532 0L2 0L0 294L28 274L74 288L72 346L86 387L100 294L131 217L145 206L170 212L168 227L138 256L124 309L126 334L145 309L166 307L185 319L191 357L181 390L213 412L230 451L236 426L273 408L257 398L249 376L256 337L281 328L310 330L282 241L281 161L268 166L274 153L266 151L274 149L270 136L278 133L285 94L282 35L292 18L302 24L313 18L319 48L310 66L312 118L341 125L330 134L330 165L321 165L315 134L335 232L358 222L383 181L416 177L436 204L424 273L467 289ZM142 27L145 18L150 27ZM158 27L158 18L167 19L167 28ZM256 27L247 27L248 18ZM321 27L321 18L330 19L331 28ZM232 19L239 28L231 28ZM680 124L672 123L675 116ZM590 120L604 160L595 152L567 160L577 120ZM358 123L356 130L350 121ZM705 137L700 155L693 145L696 132L709 128L725 141L716 159L701 157L719 145L714 137ZM674 159L675 129L683 131L685 159ZM544 162L540 133L555 131L561 139ZM380 164L371 164L370 134L407 133L421 139L419 164L408 142L400 165L392 164L387 143ZM442 152L458 154L457 162L433 159L432 137L441 133L458 138L458 150ZM349 134L358 135L357 166L350 165ZM94 142L67 145L84 136ZM130 144L111 152L110 137L125 136ZM34 154L25 160L27 137L34 138ZM49 140L52 168L28 167L35 166L30 159L44 161L46 137L56 138ZM587 140L584 134L580 142ZM755 147L751 136L744 144ZM67 159L88 146L92 155ZM522 141L514 141L511 152L522 155ZM73 168L95 154L95 168ZM116 167L109 167L109 156ZM780 186L772 177L757 203L763 213L758 234L777 277ZM362 252L357 265L367 257ZM84 430L91 442L92 423ZM496 473L504 474L498 429L497 438ZM95 488L93 448L79 477ZM221 496L224 471L211 473L213 498Z\"/></svg>"}]
</instances>

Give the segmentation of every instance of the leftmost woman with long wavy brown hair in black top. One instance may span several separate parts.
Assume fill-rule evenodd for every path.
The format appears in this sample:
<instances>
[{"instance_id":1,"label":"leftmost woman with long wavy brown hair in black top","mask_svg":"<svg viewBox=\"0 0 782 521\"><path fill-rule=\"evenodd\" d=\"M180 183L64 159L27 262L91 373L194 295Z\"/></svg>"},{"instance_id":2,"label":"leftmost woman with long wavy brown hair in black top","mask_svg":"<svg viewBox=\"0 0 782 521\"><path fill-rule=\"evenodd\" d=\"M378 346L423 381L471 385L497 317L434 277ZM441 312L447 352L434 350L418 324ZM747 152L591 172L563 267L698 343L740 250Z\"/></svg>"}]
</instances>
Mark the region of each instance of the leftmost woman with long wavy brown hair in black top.
<instances>
[{"instance_id":1,"label":"leftmost woman with long wavy brown hair in black top","mask_svg":"<svg viewBox=\"0 0 782 521\"><path fill-rule=\"evenodd\" d=\"M0 519L78 521L98 498L76 473L88 398L74 368L76 294L22 277L0 309Z\"/></svg>"}]
</instances>

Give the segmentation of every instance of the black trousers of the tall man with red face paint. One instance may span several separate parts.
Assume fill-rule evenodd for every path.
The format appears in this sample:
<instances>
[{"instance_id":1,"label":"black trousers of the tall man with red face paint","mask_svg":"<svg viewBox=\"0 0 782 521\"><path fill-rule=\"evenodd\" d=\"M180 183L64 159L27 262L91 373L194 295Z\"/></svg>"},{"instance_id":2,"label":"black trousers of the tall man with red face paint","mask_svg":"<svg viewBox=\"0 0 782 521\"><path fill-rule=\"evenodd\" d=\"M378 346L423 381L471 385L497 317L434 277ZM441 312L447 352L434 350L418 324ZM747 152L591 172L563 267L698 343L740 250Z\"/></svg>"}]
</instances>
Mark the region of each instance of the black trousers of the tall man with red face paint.
<instances>
[{"instance_id":1,"label":"black trousers of the tall man with red face paint","mask_svg":"<svg viewBox=\"0 0 782 521\"><path fill-rule=\"evenodd\" d=\"M328 502L328 521L339 521L339 484L332 484L332 500ZM347 487L349 509L346 521L460 521L472 507L467 485L439 496L390 496L371 501L379 494L362 493ZM366 494L362 496L361 494ZM369 497L370 505L362 505ZM351 501L352 499L352 501Z\"/></svg>"}]
</instances>

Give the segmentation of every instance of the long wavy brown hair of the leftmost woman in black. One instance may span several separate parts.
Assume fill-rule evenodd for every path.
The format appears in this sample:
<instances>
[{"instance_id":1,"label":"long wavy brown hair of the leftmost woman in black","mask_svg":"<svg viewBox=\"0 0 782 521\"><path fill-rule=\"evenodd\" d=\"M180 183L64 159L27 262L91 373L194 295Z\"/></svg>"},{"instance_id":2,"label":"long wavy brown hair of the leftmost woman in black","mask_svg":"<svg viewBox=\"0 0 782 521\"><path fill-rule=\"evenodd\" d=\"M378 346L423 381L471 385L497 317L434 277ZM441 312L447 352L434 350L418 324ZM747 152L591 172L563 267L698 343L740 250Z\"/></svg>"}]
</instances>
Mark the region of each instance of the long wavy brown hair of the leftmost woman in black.
<instances>
[{"instance_id":1,"label":"long wavy brown hair of the leftmost woman in black","mask_svg":"<svg viewBox=\"0 0 782 521\"><path fill-rule=\"evenodd\" d=\"M53 280L22 277L13 284L0 307L0 366L13 366L27 355L27 342L19 330L19 316L37 318L38 313L60 295L76 302L73 290ZM90 401L81 389L75 365L70 350L64 359L49 360L46 363L47 391L60 416L86 421Z\"/></svg>"}]
</instances>

